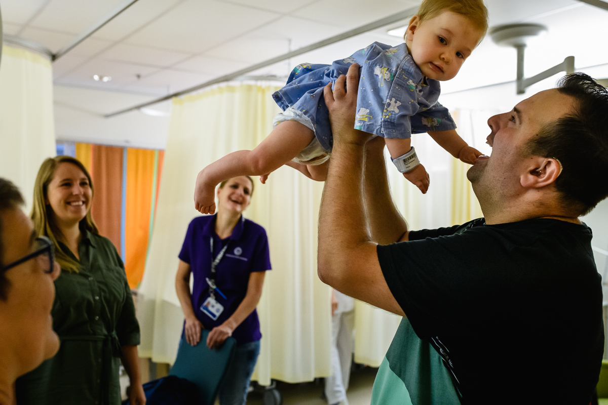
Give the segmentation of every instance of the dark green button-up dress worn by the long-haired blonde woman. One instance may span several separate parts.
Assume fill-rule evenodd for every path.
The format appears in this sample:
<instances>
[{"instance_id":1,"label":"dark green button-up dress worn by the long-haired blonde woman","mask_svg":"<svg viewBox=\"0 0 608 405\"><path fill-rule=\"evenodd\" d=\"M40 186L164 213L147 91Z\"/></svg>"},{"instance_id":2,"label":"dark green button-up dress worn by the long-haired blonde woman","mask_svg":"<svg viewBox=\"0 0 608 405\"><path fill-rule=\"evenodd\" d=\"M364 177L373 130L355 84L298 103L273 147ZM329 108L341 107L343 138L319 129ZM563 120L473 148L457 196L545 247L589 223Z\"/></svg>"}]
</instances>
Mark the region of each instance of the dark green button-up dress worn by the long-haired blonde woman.
<instances>
[{"instance_id":1,"label":"dark green button-up dress worn by the long-haired blonde woman","mask_svg":"<svg viewBox=\"0 0 608 405\"><path fill-rule=\"evenodd\" d=\"M112 242L88 231L78 254L80 271L55 280L59 352L17 380L19 405L120 404L120 347L139 344L125 268Z\"/></svg>"}]
</instances>

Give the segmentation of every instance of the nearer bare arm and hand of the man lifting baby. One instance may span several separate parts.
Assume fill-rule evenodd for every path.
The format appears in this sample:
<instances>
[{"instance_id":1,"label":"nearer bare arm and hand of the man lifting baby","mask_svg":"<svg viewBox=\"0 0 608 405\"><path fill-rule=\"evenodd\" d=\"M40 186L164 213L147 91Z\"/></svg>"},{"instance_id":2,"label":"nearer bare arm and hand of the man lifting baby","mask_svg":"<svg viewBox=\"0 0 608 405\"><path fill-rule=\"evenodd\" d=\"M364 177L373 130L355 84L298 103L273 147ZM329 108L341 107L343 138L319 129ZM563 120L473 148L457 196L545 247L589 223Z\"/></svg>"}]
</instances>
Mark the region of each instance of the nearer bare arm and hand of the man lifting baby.
<instances>
[{"instance_id":1,"label":"nearer bare arm and hand of the man lifting baby","mask_svg":"<svg viewBox=\"0 0 608 405\"><path fill-rule=\"evenodd\" d=\"M357 64L351 65L348 76L336 80L333 94L331 84L324 90L334 145L319 214L319 278L348 296L403 316L384 280L377 243L372 240L365 215L363 163L367 137L353 129L358 69Z\"/></svg>"}]
</instances>

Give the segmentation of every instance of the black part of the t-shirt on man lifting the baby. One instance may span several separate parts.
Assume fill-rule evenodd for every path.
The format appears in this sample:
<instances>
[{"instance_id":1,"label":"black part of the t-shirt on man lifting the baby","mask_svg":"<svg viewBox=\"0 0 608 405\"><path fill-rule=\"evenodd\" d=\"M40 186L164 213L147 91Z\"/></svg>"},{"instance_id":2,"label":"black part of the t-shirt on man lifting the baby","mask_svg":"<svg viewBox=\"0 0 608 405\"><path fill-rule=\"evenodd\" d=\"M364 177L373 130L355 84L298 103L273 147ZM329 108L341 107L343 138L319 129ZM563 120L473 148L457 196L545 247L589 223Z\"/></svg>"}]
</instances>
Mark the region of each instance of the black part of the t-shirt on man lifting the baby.
<instances>
[{"instance_id":1,"label":"black part of the t-shirt on man lifting the baby","mask_svg":"<svg viewBox=\"0 0 608 405\"><path fill-rule=\"evenodd\" d=\"M409 239L378 246L379 263L463 403L589 404L604 328L588 226L480 219Z\"/></svg>"}]
</instances>

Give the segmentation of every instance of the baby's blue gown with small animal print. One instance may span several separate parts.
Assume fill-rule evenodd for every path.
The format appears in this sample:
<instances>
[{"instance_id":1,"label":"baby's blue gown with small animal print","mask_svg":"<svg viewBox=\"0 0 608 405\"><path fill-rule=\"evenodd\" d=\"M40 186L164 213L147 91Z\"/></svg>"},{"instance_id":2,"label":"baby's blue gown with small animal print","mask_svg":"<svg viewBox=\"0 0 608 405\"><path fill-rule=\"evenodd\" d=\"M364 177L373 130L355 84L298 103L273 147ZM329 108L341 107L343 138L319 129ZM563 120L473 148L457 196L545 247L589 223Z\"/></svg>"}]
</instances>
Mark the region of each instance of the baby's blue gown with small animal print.
<instances>
[{"instance_id":1,"label":"baby's blue gown with small animal print","mask_svg":"<svg viewBox=\"0 0 608 405\"><path fill-rule=\"evenodd\" d=\"M390 47L377 42L331 65L296 66L285 87L272 95L285 111L285 117L275 118L275 125L295 120L312 126L322 148L331 152L333 138L323 87L345 75L353 63L361 66L354 128L385 138L456 128L446 107L437 102L439 82L424 78L406 44Z\"/></svg>"}]
</instances>

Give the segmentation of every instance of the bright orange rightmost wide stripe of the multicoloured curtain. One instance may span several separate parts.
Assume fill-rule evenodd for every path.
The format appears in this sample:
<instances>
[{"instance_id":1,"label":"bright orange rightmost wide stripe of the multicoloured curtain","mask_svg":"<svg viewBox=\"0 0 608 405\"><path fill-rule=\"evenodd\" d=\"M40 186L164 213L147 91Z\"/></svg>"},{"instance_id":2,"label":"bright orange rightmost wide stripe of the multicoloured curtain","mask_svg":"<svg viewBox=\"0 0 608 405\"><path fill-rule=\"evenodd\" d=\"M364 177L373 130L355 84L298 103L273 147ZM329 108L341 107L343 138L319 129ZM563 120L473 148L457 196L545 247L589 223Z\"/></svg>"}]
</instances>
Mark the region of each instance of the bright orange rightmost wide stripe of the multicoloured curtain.
<instances>
[{"instance_id":1,"label":"bright orange rightmost wide stripe of the multicoloured curtain","mask_svg":"<svg viewBox=\"0 0 608 405\"><path fill-rule=\"evenodd\" d=\"M154 151L126 151L125 270L131 288L143 277L153 199Z\"/></svg>"}]
</instances>

